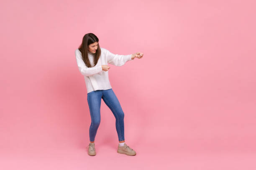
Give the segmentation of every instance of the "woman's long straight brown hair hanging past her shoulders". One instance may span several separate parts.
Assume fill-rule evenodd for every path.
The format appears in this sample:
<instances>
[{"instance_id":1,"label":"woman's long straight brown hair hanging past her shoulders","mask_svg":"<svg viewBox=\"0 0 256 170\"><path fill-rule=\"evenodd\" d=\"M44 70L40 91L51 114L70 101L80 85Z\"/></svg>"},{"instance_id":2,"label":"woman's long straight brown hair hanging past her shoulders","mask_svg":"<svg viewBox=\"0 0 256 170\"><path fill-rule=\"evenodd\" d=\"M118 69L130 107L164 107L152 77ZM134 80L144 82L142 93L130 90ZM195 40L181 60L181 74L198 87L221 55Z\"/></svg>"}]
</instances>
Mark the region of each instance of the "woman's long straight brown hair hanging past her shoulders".
<instances>
[{"instance_id":1,"label":"woman's long straight brown hair hanging past her shoulders","mask_svg":"<svg viewBox=\"0 0 256 170\"><path fill-rule=\"evenodd\" d=\"M83 40L82 40L82 44L78 48L79 51L82 53L82 59L87 67L94 67L90 64L90 60L88 58L87 52L89 52L89 45L93 44L95 42L98 42L98 48L96 50L96 53L92 54L92 55L94 55L94 66L95 66L97 64L97 62L100 58L100 54L101 54L98 37L96 35L94 35L93 33L85 34L83 37Z\"/></svg>"}]
</instances>

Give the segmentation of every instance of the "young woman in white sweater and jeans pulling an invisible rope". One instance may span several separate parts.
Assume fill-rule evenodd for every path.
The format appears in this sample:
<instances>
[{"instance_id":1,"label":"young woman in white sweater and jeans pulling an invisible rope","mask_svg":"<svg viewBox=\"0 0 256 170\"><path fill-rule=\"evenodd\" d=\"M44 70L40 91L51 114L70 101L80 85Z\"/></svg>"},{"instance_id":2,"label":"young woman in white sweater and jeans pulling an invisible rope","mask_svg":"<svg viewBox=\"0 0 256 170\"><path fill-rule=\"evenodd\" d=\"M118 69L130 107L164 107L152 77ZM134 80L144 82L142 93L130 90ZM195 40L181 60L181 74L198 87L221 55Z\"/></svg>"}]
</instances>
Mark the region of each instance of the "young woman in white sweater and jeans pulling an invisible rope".
<instances>
[{"instance_id":1,"label":"young woman in white sweater and jeans pulling an invisible rope","mask_svg":"<svg viewBox=\"0 0 256 170\"><path fill-rule=\"evenodd\" d=\"M125 143L124 139L124 112L108 79L108 63L122 66L125 62L142 58L143 53L136 52L130 55L117 55L100 47L99 39L93 33L85 34L82 44L75 50L78 69L87 88L87 102L90 109L91 125L89 129L90 143L87 146L89 155L96 155L95 136L100 125L101 99L110 108L115 116L115 127L118 134L118 153L136 155L135 150Z\"/></svg>"}]
</instances>

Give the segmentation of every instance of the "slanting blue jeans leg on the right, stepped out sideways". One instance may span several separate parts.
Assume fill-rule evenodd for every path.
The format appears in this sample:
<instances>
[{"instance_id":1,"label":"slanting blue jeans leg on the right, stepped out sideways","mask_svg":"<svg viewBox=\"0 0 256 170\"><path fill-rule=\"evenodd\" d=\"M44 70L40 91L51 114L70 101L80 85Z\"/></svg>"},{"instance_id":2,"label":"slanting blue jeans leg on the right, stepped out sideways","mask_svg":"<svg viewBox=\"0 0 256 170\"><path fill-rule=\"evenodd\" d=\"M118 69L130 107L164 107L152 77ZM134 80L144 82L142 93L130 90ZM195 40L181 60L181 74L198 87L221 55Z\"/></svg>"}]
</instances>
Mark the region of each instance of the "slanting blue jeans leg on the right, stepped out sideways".
<instances>
[{"instance_id":1,"label":"slanting blue jeans leg on the right, stepped out sideways","mask_svg":"<svg viewBox=\"0 0 256 170\"><path fill-rule=\"evenodd\" d=\"M115 128L118 133L118 140L124 142L124 112L116 97L114 91L111 89L103 90L102 99L110 108L115 116Z\"/></svg>"}]
</instances>

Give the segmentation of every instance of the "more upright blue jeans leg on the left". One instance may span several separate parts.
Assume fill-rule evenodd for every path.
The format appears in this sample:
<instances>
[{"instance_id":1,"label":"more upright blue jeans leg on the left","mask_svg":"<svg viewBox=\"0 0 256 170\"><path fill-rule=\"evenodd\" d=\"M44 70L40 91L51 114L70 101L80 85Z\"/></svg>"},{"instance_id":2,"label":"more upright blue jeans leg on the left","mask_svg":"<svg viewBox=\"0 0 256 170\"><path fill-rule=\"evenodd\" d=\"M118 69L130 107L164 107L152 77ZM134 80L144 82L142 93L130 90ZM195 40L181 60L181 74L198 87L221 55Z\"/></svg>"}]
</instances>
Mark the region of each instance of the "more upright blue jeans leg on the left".
<instances>
[{"instance_id":1,"label":"more upright blue jeans leg on the left","mask_svg":"<svg viewBox=\"0 0 256 170\"><path fill-rule=\"evenodd\" d=\"M93 143L100 125L100 105L102 92L92 91L87 94L87 102L90 109L91 125L89 129L90 142Z\"/></svg>"}]
</instances>

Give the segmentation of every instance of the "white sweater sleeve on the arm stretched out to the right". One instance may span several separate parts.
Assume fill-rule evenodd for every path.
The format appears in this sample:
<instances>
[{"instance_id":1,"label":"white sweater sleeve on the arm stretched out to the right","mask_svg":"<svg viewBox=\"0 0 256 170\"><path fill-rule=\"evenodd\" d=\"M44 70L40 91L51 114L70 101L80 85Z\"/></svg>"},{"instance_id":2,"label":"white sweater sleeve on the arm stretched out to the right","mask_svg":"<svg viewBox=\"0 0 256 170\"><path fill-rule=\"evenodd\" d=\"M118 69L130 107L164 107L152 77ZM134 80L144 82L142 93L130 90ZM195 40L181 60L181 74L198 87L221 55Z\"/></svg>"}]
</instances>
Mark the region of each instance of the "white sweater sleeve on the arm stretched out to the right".
<instances>
[{"instance_id":1,"label":"white sweater sleeve on the arm stretched out to the right","mask_svg":"<svg viewBox=\"0 0 256 170\"><path fill-rule=\"evenodd\" d=\"M106 51L106 56L108 59L108 63L116 66L122 66L125 64L125 62L132 60L131 59L131 54L130 55L118 55L118 54L113 54L109 50Z\"/></svg>"}]
</instances>

